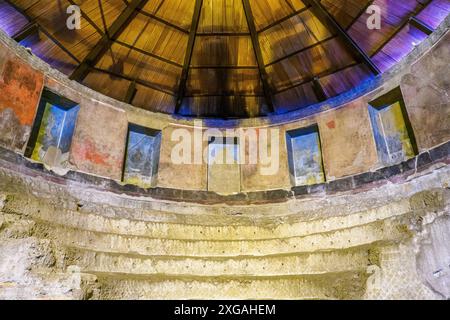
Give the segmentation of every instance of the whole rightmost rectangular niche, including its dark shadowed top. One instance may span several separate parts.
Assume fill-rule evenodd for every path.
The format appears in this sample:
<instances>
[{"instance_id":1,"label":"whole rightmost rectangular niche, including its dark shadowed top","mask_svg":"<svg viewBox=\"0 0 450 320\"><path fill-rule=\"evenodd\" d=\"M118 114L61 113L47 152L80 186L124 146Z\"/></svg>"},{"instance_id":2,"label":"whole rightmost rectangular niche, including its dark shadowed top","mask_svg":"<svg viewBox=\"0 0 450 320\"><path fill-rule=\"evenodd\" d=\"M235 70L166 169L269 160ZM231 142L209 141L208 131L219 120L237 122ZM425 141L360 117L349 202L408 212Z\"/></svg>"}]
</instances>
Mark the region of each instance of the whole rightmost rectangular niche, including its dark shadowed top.
<instances>
[{"instance_id":1,"label":"whole rightmost rectangular niche, including its dark shadowed top","mask_svg":"<svg viewBox=\"0 0 450 320\"><path fill-rule=\"evenodd\" d=\"M369 104L370 121L380 162L394 165L418 154L400 88Z\"/></svg>"}]
</instances>

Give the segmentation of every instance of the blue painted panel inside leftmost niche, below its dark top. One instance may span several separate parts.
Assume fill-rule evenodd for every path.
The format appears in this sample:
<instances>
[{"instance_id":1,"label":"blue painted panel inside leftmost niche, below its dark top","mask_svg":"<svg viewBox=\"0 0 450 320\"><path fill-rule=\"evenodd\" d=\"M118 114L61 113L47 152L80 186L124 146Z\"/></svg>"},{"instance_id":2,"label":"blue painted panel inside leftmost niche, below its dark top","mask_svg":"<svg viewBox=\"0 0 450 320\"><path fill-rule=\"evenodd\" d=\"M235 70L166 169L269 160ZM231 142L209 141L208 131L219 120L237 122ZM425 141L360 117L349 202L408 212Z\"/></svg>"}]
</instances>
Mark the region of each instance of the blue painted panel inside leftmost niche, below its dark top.
<instances>
[{"instance_id":1,"label":"blue painted panel inside leftmost niche, below its dark top","mask_svg":"<svg viewBox=\"0 0 450 320\"><path fill-rule=\"evenodd\" d=\"M31 158L56 167L67 167L79 107L65 109L46 103Z\"/></svg>"}]
</instances>

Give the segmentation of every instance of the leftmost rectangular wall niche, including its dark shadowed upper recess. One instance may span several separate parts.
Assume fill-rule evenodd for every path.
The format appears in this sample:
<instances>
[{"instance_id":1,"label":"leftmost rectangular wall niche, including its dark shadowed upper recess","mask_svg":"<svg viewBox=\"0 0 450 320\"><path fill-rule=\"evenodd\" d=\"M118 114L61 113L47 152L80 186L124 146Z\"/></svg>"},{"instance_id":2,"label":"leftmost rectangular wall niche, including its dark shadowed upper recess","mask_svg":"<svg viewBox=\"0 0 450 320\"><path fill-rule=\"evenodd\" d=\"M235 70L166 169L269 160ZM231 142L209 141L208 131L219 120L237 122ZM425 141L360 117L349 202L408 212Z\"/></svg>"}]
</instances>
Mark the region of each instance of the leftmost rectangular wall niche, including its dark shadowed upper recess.
<instances>
[{"instance_id":1,"label":"leftmost rectangular wall niche, including its dark shadowed upper recess","mask_svg":"<svg viewBox=\"0 0 450 320\"><path fill-rule=\"evenodd\" d=\"M67 167L79 110L77 103L44 89L25 156L51 167Z\"/></svg>"}]
</instances>

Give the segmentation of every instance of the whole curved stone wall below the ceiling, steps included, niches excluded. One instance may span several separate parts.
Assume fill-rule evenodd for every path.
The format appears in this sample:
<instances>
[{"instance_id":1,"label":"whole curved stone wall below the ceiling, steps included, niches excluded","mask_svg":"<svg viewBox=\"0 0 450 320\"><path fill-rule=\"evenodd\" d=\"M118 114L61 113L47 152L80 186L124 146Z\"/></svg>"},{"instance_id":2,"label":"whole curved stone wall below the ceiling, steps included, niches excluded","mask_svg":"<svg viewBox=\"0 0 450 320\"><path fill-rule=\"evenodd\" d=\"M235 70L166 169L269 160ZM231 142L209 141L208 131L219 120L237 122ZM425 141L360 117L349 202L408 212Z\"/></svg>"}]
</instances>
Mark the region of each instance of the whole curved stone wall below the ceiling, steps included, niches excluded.
<instances>
[{"instance_id":1,"label":"whole curved stone wall below the ceiling, steps included, niches excluded","mask_svg":"<svg viewBox=\"0 0 450 320\"><path fill-rule=\"evenodd\" d=\"M279 130L277 174L243 164L239 191L223 194L207 164L171 161L172 132L194 132L194 120L69 82L0 35L0 298L449 299L448 22L354 95L272 119L203 120L217 135ZM45 143L34 124L50 92L79 105L69 151L53 154L65 166L30 149ZM386 164L369 105L384 110L399 92L414 154ZM130 123L161 139L151 187L122 182ZM326 182L293 186L286 141L311 125Z\"/></svg>"}]
</instances>

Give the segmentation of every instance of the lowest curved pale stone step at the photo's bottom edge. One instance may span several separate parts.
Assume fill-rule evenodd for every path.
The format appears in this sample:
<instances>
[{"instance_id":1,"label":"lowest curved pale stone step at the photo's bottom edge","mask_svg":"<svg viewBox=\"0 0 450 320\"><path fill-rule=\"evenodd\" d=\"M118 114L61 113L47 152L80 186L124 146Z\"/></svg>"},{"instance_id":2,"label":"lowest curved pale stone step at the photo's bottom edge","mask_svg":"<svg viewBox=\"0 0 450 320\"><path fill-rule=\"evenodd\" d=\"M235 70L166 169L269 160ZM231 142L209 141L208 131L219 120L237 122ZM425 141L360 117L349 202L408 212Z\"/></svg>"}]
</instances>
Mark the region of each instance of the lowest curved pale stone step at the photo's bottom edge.
<instances>
[{"instance_id":1,"label":"lowest curved pale stone step at the photo's bottom edge","mask_svg":"<svg viewBox=\"0 0 450 320\"><path fill-rule=\"evenodd\" d=\"M95 273L100 299L360 299L367 274L291 277L161 277Z\"/></svg>"}]
</instances>

